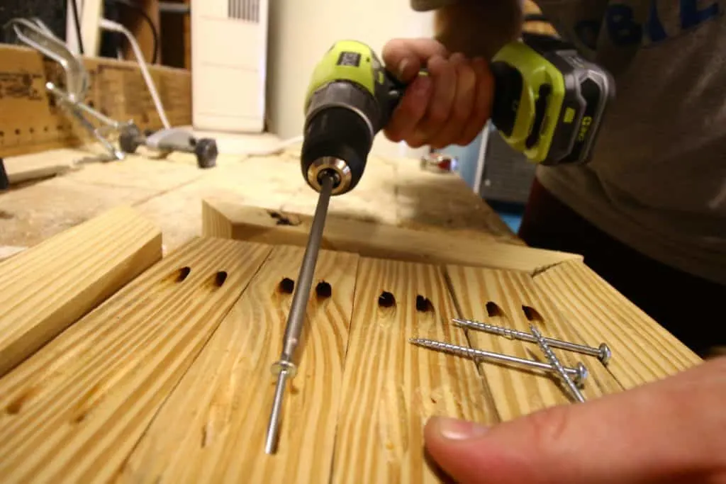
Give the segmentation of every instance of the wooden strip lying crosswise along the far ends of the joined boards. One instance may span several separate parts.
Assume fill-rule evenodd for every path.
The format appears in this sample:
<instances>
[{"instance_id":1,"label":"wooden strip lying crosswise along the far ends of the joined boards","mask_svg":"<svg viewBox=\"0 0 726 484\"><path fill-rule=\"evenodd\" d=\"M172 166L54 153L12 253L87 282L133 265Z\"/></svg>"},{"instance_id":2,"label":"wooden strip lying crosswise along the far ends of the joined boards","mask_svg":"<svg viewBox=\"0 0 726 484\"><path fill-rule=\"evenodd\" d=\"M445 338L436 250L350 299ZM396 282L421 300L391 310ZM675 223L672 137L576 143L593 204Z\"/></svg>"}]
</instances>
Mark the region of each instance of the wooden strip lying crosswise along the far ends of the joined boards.
<instances>
[{"instance_id":1,"label":"wooden strip lying crosswise along the far ends of the joined boards","mask_svg":"<svg viewBox=\"0 0 726 484\"><path fill-rule=\"evenodd\" d=\"M211 237L304 246L312 218L298 213L205 199L202 233ZM419 263L457 263L534 274L582 256L493 242L489 234L462 237L456 231L417 231L328 216L322 246L365 257Z\"/></svg>"}]
</instances>

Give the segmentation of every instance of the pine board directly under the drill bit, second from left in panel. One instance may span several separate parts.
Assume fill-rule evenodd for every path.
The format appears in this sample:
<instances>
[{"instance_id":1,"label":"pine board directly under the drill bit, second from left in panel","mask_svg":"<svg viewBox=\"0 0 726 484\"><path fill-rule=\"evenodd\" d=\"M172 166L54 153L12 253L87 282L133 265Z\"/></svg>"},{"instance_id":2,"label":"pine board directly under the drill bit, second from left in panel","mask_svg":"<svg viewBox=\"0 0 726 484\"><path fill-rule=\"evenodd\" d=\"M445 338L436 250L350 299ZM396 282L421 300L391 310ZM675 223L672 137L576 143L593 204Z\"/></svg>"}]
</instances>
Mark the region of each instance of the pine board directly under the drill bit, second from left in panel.
<instances>
[{"instance_id":1,"label":"pine board directly under the drill bit, second from left in panel","mask_svg":"<svg viewBox=\"0 0 726 484\"><path fill-rule=\"evenodd\" d=\"M327 483L358 257L322 251L298 376L287 387L277 454L264 454L274 380L295 279L298 247L277 247L123 467L128 483ZM303 336L304 337L304 336ZM292 388L291 388L292 387Z\"/></svg>"}]
</instances>

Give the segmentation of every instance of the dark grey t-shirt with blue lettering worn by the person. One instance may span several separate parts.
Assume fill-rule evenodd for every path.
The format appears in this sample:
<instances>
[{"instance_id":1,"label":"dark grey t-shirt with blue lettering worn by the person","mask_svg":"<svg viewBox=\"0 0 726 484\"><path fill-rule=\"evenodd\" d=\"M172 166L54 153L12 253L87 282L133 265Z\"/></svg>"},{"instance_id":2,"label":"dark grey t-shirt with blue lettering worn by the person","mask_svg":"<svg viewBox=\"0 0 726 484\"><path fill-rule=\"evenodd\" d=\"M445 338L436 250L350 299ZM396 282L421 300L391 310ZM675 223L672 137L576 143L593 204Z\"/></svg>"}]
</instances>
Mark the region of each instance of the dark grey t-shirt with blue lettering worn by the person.
<instances>
[{"instance_id":1,"label":"dark grey t-shirt with blue lettering worn by the person","mask_svg":"<svg viewBox=\"0 0 726 484\"><path fill-rule=\"evenodd\" d=\"M592 163L539 167L539 181L616 239L726 284L726 4L537 4L616 81Z\"/></svg>"}]
</instances>

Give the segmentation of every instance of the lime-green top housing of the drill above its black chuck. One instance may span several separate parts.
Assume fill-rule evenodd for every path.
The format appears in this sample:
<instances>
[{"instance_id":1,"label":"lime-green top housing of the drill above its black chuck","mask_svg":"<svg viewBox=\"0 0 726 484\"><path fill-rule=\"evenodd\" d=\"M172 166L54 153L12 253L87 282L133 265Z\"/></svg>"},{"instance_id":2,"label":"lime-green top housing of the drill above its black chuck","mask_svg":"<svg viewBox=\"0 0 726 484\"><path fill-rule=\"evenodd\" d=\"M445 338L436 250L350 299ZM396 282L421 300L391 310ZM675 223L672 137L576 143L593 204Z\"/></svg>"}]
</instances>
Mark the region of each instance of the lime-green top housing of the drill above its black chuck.
<instances>
[{"instance_id":1,"label":"lime-green top housing of the drill above its black chuck","mask_svg":"<svg viewBox=\"0 0 726 484\"><path fill-rule=\"evenodd\" d=\"M346 52L360 55L359 65L338 65L340 55ZM372 61L375 54L369 46L359 41L338 41L330 47L313 70L305 96L305 107L315 91L335 81L349 81L358 84L375 96L376 70ZM380 72L380 71L379 71ZM382 73L382 72L381 72ZM381 82L380 79L378 81Z\"/></svg>"}]
</instances>

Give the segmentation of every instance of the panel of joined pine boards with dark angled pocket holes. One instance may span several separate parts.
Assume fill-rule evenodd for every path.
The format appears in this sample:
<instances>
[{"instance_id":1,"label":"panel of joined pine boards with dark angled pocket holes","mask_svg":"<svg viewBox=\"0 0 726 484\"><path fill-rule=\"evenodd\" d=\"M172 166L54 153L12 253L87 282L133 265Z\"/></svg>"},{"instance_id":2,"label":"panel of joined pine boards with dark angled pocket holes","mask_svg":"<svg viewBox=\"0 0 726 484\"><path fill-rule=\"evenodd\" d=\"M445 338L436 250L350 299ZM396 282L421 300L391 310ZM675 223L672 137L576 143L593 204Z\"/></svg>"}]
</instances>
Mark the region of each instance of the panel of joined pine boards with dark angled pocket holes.
<instances>
[{"instance_id":1,"label":"panel of joined pine boards with dark angled pocket holes","mask_svg":"<svg viewBox=\"0 0 726 484\"><path fill-rule=\"evenodd\" d=\"M0 474L9 483L237 482L271 473L298 483L439 482L422 445L428 417L495 424L570 400L547 374L476 364L409 337L537 358L531 345L475 337L449 321L501 322L483 312L489 300L507 324L534 321L547 337L590 343L601 325L615 332L623 323L613 311L620 301L606 287L594 291L579 261L533 275L326 250L315 283L325 279L330 295L312 292L304 370L286 396L280 454L266 456L269 365L291 292L280 278L294 284L300 259L300 247L203 237L144 271L0 378ZM563 298L547 289L550 271L552 281L567 279L558 269L579 271ZM593 294L608 305L573 303ZM529 318L523 305L534 310ZM627 318L643 321L634 307ZM700 363L657 327L647 330L658 337L639 340L637 356L606 340L608 366L555 352L590 369L588 398ZM643 353L659 361L658 373L613 371Z\"/></svg>"}]
</instances>

